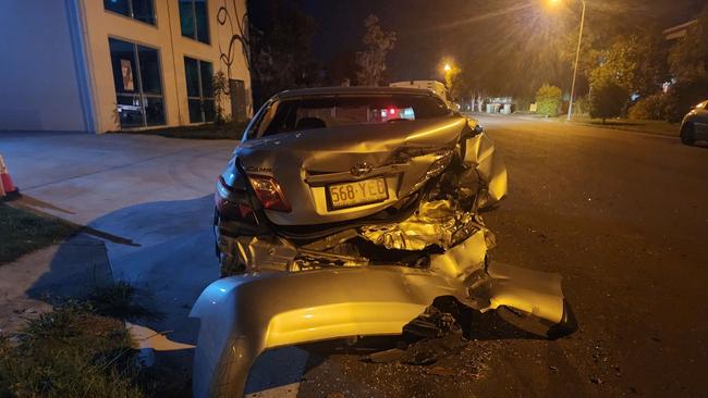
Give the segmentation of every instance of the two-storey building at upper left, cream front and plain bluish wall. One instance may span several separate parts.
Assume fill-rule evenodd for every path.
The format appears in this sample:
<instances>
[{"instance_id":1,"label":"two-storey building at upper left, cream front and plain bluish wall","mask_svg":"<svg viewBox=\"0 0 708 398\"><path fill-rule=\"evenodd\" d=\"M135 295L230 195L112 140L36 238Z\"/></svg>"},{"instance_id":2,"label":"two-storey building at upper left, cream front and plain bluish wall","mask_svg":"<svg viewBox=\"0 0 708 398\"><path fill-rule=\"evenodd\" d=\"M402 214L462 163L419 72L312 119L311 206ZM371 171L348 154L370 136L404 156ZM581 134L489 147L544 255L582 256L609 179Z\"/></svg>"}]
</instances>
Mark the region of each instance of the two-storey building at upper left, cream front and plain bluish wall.
<instances>
[{"instance_id":1,"label":"two-storey building at upper left, cream front and plain bluish wall","mask_svg":"<svg viewBox=\"0 0 708 398\"><path fill-rule=\"evenodd\" d=\"M245 120L245 0L2 2L0 130L103 133L208 123L217 114ZM219 71L223 78L215 80Z\"/></svg>"}]
</instances>

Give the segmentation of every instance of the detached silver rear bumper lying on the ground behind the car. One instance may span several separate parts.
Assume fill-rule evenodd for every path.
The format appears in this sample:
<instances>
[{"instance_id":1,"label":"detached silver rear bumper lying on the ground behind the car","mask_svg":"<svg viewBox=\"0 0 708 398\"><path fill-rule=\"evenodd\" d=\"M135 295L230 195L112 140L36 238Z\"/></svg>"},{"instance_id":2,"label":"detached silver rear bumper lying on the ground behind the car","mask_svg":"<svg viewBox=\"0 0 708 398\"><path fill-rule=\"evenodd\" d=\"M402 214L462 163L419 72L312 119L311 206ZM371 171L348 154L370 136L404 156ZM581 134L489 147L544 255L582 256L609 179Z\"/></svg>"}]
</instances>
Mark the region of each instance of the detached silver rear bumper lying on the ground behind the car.
<instances>
[{"instance_id":1,"label":"detached silver rear bumper lying on the ground behind the car","mask_svg":"<svg viewBox=\"0 0 708 398\"><path fill-rule=\"evenodd\" d=\"M209 285L191 316L202 321L194 360L196 397L240 397L266 349L356 335L401 334L437 297L479 311L500 306L564 319L558 275L490 265L461 278L403 266L272 272Z\"/></svg>"}]
</instances>

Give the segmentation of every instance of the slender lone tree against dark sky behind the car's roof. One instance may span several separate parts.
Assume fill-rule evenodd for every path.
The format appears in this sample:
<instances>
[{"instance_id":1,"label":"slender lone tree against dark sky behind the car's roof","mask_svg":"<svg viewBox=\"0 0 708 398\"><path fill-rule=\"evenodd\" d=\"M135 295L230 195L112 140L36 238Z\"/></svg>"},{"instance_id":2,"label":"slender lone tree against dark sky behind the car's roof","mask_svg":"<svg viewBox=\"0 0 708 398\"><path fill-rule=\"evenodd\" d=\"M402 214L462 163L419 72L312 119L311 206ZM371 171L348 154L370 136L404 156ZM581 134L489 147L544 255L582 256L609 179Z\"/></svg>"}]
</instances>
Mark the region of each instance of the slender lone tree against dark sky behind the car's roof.
<instances>
[{"instance_id":1,"label":"slender lone tree against dark sky behind the car's roof","mask_svg":"<svg viewBox=\"0 0 708 398\"><path fill-rule=\"evenodd\" d=\"M366 50L356 53L357 83L362 86L378 86L386 71L386 55L395 46L395 32L384 32L379 25L379 18L370 14L364 20L366 34L364 45Z\"/></svg>"}]
</instances>

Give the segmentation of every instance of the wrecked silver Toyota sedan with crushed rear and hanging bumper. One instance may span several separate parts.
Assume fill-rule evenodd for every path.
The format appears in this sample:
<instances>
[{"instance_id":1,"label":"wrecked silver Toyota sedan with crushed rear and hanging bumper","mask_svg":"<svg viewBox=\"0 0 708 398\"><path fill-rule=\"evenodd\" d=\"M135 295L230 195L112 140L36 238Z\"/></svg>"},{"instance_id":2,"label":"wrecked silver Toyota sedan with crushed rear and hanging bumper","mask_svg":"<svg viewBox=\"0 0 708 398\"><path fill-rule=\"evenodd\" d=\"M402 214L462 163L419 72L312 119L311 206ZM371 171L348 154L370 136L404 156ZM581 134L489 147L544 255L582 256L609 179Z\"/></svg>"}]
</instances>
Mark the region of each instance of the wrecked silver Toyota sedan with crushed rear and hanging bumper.
<instances>
[{"instance_id":1,"label":"wrecked silver Toyota sedan with crushed rear and hanging bumper","mask_svg":"<svg viewBox=\"0 0 708 398\"><path fill-rule=\"evenodd\" d=\"M241 396L273 347L401 334L440 297L572 321L558 275L490 262L479 211L506 169L472 119L432 92L282 92L217 184L223 278L199 297L195 396Z\"/></svg>"}]
</instances>

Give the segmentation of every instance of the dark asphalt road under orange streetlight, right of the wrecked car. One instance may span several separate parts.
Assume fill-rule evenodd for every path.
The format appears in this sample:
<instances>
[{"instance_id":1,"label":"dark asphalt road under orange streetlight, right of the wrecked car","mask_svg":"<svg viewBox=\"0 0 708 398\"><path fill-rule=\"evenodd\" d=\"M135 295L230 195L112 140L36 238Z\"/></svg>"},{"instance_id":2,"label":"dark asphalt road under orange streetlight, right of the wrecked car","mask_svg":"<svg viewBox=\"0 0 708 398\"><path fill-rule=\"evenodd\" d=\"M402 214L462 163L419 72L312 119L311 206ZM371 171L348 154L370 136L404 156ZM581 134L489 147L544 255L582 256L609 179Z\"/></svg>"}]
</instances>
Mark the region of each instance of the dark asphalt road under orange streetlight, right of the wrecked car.
<instances>
[{"instance_id":1,"label":"dark asphalt road under orange streetlight, right of the wrecked car","mask_svg":"<svg viewBox=\"0 0 708 398\"><path fill-rule=\"evenodd\" d=\"M548 341L501 327L437 369L314 349L298 396L707 396L708 146L480 122L510 173L509 198L485 216L492 258L562 274L579 331Z\"/></svg>"}]
</instances>

